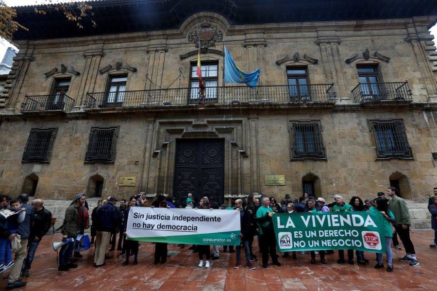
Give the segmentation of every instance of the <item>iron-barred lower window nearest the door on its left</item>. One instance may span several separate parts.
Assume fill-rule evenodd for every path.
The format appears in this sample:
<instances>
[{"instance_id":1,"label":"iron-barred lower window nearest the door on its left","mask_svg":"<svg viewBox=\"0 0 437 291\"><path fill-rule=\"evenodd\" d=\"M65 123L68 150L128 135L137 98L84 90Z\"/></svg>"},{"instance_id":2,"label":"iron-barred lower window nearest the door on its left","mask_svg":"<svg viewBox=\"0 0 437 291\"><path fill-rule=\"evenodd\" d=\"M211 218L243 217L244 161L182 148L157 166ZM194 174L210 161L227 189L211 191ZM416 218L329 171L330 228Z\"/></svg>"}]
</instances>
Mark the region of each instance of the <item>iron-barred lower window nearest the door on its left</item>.
<instances>
[{"instance_id":1,"label":"iron-barred lower window nearest the door on its left","mask_svg":"<svg viewBox=\"0 0 437 291\"><path fill-rule=\"evenodd\" d=\"M116 156L116 148L117 148L117 138L118 138L118 126L111 126L111 127L99 127L94 126L91 127L88 137L88 145L86 147L86 153L85 153L85 163L114 163L115 156ZM111 140L109 153L103 154L100 152L100 154L94 154L90 153L92 149L93 143L96 138L99 138L100 135L104 135L104 132L110 133L110 137L107 139ZM106 146L106 144L103 144L103 147Z\"/></svg>"}]
</instances>

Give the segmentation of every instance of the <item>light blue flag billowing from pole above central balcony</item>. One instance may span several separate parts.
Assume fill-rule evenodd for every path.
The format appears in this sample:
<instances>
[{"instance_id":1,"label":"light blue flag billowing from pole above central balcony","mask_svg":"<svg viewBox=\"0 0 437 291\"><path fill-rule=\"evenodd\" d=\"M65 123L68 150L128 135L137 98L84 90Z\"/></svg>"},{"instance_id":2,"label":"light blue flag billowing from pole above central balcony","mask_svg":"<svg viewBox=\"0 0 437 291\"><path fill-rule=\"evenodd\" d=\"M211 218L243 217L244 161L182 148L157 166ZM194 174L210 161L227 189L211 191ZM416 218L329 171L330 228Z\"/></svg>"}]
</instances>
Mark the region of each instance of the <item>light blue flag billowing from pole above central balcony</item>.
<instances>
[{"instance_id":1,"label":"light blue flag billowing from pole above central balcony","mask_svg":"<svg viewBox=\"0 0 437 291\"><path fill-rule=\"evenodd\" d=\"M245 73L235 65L231 54L225 47L225 83L244 83L249 87L258 85L260 68L251 73Z\"/></svg>"}]
</instances>

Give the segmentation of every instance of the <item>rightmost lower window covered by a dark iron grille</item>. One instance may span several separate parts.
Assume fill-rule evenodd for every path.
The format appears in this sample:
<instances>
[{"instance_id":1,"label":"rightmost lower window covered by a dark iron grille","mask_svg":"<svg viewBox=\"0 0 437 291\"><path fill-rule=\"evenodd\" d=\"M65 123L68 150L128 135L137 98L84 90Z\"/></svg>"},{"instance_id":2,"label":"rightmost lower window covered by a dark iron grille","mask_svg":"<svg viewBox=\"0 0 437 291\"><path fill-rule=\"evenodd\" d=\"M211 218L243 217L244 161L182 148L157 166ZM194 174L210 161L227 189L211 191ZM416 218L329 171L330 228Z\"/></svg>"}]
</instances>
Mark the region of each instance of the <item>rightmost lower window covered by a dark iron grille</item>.
<instances>
[{"instance_id":1,"label":"rightmost lower window covered by a dark iron grille","mask_svg":"<svg viewBox=\"0 0 437 291\"><path fill-rule=\"evenodd\" d=\"M406 135L405 131L405 124L402 119L387 119L387 120L369 120L370 124L370 131L373 136L373 142L375 145L375 153L376 153L376 159L391 159L391 158L398 158L398 159L414 159L413 151L411 150L411 147L408 142L408 137ZM392 130L393 127L397 130L395 132L391 132L391 135L393 136L393 141L387 141L387 137L383 137L385 140L385 144L387 146L387 143L403 143L401 144L403 149L402 151L384 151L384 149L380 148L380 143L378 140L380 137L378 137L376 126L385 126L386 128ZM396 139L401 139L401 141L397 141ZM395 146L395 145L393 145Z\"/></svg>"}]
</instances>

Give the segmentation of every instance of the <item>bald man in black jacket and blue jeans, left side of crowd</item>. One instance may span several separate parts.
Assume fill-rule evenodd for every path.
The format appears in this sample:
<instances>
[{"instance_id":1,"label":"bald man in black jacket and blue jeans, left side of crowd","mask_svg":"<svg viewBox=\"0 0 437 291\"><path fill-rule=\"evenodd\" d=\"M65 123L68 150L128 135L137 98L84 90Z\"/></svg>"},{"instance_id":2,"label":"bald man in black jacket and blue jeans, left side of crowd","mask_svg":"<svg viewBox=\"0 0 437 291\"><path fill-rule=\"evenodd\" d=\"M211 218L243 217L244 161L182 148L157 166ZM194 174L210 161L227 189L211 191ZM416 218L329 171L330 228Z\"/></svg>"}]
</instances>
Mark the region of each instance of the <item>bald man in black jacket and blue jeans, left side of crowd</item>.
<instances>
[{"instance_id":1,"label":"bald man in black jacket and blue jeans, left side of crowd","mask_svg":"<svg viewBox=\"0 0 437 291\"><path fill-rule=\"evenodd\" d=\"M50 229L51 212L44 208L44 202L41 199L32 201L32 206L35 209L35 218L31 227L29 242L27 244L27 257L24 260L22 270L23 277L29 277L32 261L34 260L35 251L42 237L44 237Z\"/></svg>"}]
</instances>

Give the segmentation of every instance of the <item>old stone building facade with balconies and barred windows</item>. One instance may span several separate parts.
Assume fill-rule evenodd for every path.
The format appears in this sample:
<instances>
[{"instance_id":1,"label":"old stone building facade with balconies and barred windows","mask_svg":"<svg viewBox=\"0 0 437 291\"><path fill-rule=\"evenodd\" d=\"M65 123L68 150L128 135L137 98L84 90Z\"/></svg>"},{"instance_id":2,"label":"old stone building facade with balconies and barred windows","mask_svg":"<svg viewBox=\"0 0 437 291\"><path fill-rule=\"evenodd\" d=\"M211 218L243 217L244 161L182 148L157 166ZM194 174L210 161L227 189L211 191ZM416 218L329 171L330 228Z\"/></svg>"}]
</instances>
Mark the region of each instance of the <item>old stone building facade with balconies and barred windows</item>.
<instances>
[{"instance_id":1,"label":"old stone building facade with balconies and barred windows","mask_svg":"<svg viewBox=\"0 0 437 291\"><path fill-rule=\"evenodd\" d=\"M115 2L96 2L97 20ZM26 9L17 9L23 19ZM194 191L218 202L309 191L331 201L391 184L424 201L437 187L434 10L250 24L187 10L170 28L63 37L35 24L16 37L0 97L0 191L181 201ZM199 45L212 66L202 74L217 73L203 101ZM261 68L257 88L223 84L224 45L241 70Z\"/></svg>"}]
</instances>

